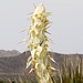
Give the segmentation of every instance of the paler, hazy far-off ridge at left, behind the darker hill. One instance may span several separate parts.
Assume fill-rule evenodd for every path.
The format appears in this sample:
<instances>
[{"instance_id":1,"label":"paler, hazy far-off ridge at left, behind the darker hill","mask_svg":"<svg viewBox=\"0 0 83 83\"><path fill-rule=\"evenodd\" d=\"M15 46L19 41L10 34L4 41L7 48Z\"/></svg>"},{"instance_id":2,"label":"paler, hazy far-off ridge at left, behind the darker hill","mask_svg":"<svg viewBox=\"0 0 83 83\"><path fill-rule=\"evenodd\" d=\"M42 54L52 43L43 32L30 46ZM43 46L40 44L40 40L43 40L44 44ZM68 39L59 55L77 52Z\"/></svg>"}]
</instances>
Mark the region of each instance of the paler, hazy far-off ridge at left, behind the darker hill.
<instances>
[{"instance_id":1,"label":"paler, hazy far-off ridge at left, behind the darker hill","mask_svg":"<svg viewBox=\"0 0 83 83\"><path fill-rule=\"evenodd\" d=\"M0 50L0 58L15 56L18 54L20 54L20 52L17 50L12 50L12 51Z\"/></svg>"}]
</instances>

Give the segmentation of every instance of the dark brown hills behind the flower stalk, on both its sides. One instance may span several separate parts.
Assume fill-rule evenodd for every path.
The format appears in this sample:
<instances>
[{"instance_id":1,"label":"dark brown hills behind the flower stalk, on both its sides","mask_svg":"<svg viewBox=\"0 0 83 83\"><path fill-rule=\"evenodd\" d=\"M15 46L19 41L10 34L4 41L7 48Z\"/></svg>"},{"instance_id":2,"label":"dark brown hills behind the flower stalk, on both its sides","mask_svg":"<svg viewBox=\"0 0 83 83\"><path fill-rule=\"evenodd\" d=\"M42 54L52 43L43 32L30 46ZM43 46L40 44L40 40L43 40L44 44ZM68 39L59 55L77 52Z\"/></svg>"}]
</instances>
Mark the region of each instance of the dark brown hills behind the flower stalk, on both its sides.
<instances>
[{"instance_id":1,"label":"dark brown hills behind the flower stalk, on both its sides","mask_svg":"<svg viewBox=\"0 0 83 83\"><path fill-rule=\"evenodd\" d=\"M56 69L60 69L63 62L68 63L69 59L71 59L73 64L75 64L77 58L79 59L83 58L83 54L60 54L55 52L49 52L49 53L58 62L59 65L56 65L50 60L52 66ZM27 64L27 59L29 56L30 52L28 51L27 53L25 52L19 53L18 55L14 56L10 55L7 58L0 58L0 79L9 77L9 75L10 77L12 76L15 77L17 75L20 75L22 73L28 73L30 68L28 69L28 71L25 71L25 64ZM29 75L29 79L35 79L35 77L31 73Z\"/></svg>"}]
</instances>

